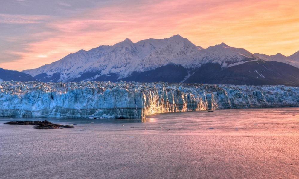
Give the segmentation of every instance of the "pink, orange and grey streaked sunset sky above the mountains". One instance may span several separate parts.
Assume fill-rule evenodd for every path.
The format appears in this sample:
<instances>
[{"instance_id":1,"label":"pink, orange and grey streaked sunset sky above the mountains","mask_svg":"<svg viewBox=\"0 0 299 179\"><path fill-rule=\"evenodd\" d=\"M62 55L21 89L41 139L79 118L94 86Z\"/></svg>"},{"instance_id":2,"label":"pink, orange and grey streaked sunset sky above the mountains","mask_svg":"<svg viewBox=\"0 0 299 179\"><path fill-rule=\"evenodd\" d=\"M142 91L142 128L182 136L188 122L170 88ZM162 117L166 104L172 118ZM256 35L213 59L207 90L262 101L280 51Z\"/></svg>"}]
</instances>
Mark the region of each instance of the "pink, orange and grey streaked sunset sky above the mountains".
<instances>
[{"instance_id":1,"label":"pink, orange and grey streaked sunset sky above the mountains","mask_svg":"<svg viewBox=\"0 0 299 179\"><path fill-rule=\"evenodd\" d=\"M298 0L1 0L0 67L25 70L80 49L179 34L207 48L299 50Z\"/></svg>"}]
</instances>

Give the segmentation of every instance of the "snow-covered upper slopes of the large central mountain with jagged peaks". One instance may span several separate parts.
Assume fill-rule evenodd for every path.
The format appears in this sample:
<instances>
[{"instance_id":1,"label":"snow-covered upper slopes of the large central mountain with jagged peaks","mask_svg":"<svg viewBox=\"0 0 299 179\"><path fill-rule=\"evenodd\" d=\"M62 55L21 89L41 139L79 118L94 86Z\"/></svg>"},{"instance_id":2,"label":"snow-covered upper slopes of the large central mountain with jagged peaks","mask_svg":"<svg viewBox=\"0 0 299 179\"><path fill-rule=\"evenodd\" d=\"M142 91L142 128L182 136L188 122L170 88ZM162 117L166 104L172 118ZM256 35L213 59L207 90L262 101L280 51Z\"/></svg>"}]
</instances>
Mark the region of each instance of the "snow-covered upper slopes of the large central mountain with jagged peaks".
<instances>
[{"instance_id":1,"label":"snow-covered upper slopes of the large central mountain with jagged peaks","mask_svg":"<svg viewBox=\"0 0 299 179\"><path fill-rule=\"evenodd\" d=\"M87 81L110 73L124 78L134 71L144 72L170 63L180 64L185 68L200 67L209 62L227 67L254 59L254 55L245 49L229 47L224 43L203 49L176 35L137 43L127 38L113 46L80 50L59 61L23 72L41 81L46 79L55 82L57 78L58 81L72 81L82 75L88 76L84 78ZM53 75L55 78L52 78Z\"/></svg>"}]
</instances>

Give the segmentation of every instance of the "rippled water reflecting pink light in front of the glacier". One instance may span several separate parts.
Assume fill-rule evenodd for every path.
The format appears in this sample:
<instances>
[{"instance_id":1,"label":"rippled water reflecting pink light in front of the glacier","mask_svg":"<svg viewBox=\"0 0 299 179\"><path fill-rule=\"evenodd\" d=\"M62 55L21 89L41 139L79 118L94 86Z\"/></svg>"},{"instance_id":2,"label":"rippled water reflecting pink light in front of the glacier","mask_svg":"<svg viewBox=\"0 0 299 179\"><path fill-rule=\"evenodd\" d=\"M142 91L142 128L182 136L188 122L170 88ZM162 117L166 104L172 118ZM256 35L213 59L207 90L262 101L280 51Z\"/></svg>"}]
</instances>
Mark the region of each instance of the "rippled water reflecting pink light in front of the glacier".
<instances>
[{"instance_id":1,"label":"rippled water reflecting pink light in front of the glacier","mask_svg":"<svg viewBox=\"0 0 299 179\"><path fill-rule=\"evenodd\" d=\"M0 118L1 179L299 178L299 108L3 124L16 120Z\"/></svg>"}]
</instances>

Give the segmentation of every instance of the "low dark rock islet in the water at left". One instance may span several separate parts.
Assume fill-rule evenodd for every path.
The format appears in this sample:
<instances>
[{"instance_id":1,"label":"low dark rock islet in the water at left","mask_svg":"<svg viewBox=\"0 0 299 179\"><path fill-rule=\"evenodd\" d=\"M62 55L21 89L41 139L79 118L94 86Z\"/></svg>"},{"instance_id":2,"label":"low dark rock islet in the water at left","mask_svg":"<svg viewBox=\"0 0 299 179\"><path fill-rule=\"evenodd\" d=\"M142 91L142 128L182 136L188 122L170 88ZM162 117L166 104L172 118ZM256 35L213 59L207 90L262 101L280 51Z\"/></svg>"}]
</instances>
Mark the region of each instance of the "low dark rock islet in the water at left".
<instances>
[{"instance_id":1,"label":"low dark rock islet in the water at left","mask_svg":"<svg viewBox=\"0 0 299 179\"><path fill-rule=\"evenodd\" d=\"M45 121L10 121L4 124L10 125L34 125L35 129L58 129L58 128L72 128L74 126L54 124L47 120Z\"/></svg>"}]
</instances>

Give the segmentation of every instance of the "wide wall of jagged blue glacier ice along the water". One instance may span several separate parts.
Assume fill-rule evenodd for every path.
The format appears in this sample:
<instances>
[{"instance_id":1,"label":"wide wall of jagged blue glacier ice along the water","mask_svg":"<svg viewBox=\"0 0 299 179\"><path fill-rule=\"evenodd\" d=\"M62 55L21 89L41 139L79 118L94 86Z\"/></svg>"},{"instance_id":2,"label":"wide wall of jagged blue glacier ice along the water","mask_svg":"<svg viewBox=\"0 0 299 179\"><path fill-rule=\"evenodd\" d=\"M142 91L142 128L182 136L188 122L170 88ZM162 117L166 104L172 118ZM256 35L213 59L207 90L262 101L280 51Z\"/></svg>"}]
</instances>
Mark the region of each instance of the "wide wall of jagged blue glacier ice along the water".
<instances>
[{"instance_id":1,"label":"wide wall of jagged blue glacier ice along the water","mask_svg":"<svg viewBox=\"0 0 299 179\"><path fill-rule=\"evenodd\" d=\"M299 107L299 87L137 82L0 82L0 116L144 118L164 112Z\"/></svg>"}]
</instances>

